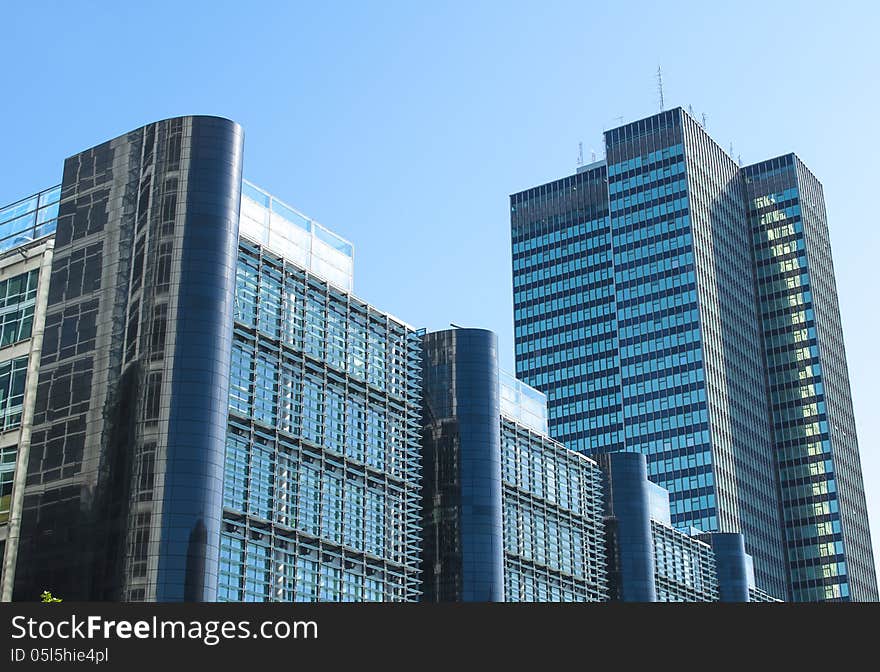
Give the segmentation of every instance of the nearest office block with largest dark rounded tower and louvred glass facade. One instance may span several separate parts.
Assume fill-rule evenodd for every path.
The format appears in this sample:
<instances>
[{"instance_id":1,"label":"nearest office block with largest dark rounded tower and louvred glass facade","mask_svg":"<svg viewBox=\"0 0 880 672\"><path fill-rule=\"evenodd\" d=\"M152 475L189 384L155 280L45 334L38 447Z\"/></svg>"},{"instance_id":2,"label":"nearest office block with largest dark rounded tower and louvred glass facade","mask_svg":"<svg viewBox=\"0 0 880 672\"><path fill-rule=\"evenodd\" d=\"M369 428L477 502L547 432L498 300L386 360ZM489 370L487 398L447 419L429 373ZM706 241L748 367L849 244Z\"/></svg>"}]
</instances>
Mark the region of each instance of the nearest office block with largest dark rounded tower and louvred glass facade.
<instances>
[{"instance_id":1,"label":"nearest office block with largest dark rounded tower and louvred glass facade","mask_svg":"<svg viewBox=\"0 0 880 672\"><path fill-rule=\"evenodd\" d=\"M9 429L21 406L4 599L418 595L419 337L241 159L231 121L149 124L68 159L60 205L49 190L0 229L54 232L36 285L34 250L0 257L10 333L37 310L3 398Z\"/></svg>"}]
</instances>

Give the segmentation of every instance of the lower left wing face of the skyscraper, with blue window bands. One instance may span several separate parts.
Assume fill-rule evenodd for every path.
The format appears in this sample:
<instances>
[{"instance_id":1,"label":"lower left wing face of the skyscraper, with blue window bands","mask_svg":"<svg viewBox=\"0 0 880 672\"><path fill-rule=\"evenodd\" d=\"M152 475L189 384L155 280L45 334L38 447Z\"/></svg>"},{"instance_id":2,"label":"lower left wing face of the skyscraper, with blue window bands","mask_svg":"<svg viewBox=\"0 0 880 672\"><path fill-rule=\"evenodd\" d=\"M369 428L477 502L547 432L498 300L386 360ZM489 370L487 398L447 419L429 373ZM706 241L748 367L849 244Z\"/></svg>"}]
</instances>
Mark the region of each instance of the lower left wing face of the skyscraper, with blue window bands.
<instances>
[{"instance_id":1,"label":"lower left wing face of the skyscraper, with blue window bands","mask_svg":"<svg viewBox=\"0 0 880 672\"><path fill-rule=\"evenodd\" d=\"M547 395L550 435L586 453L624 446L606 179L510 199L516 376Z\"/></svg>"}]
</instances>

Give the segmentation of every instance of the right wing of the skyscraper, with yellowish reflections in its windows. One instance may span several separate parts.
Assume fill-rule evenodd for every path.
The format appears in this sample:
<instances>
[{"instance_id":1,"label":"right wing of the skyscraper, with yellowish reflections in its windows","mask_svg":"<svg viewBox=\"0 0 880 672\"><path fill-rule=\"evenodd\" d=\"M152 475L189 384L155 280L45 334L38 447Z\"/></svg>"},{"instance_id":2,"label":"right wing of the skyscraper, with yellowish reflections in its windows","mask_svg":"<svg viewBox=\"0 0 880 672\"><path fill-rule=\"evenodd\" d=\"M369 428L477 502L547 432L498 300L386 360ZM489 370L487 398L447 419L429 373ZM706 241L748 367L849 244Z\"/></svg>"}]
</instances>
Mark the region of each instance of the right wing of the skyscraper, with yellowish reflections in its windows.
<instances>
[{"instance_id":1,"label":"right wing of the skyscraper, with yellowish reflections in its windows","mask_svg":"<svg viewBox=\"0 0 880 672\"><path fill-rule=\"evenodd\" d=\"M876 600L822 185L793 154L743 176L792 598Z\"/></svg>"}]
</instances>

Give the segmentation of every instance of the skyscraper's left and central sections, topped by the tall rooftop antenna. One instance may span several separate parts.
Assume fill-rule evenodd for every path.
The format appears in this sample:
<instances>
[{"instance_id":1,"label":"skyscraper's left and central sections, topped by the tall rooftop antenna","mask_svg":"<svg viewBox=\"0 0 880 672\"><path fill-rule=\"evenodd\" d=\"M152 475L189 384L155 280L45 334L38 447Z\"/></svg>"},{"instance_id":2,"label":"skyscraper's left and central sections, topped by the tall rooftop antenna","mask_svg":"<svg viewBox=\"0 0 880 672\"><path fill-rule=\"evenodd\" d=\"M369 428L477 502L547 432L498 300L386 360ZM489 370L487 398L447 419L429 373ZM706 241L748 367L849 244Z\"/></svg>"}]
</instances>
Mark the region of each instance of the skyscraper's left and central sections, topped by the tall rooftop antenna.
<instances>
[{"instance_id":1,"label":"skyscraper's left and central sections, topped by the tall rooftop antenna","mask_svg":"<svg viewBox=\"0 0 880 672\"><path fill-rule=\"evenodd\" d=\"M605 144L606 160L511 196L517 374L547 393L554 438L644 453L672 524L741 531L758 585L785 596L794 532L779 504L743 172L681 108L607 131Z\"/></svg>"}]
</instances>

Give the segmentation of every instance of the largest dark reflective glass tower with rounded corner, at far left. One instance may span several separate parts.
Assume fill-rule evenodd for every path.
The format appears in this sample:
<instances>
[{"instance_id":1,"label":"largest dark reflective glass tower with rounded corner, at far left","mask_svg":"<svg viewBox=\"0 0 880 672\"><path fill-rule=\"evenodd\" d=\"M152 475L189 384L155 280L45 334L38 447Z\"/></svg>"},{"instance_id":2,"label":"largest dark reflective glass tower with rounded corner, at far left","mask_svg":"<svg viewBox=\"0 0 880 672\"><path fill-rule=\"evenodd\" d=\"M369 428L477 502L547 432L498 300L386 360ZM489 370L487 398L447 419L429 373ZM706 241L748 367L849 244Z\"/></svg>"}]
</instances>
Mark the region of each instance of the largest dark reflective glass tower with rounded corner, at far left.
<instances>
[{"instance_id":1,"label":"largest dark reflective glass tower with rounded corner, at far left","mask_svg":"<svg viewBox=\"0 0 880 672\"><path fill-rule=\"evenodd\" d=\"M64 164L15 599L214 599L241 142L178 117Z\"/></svg>"}]
</instances>

